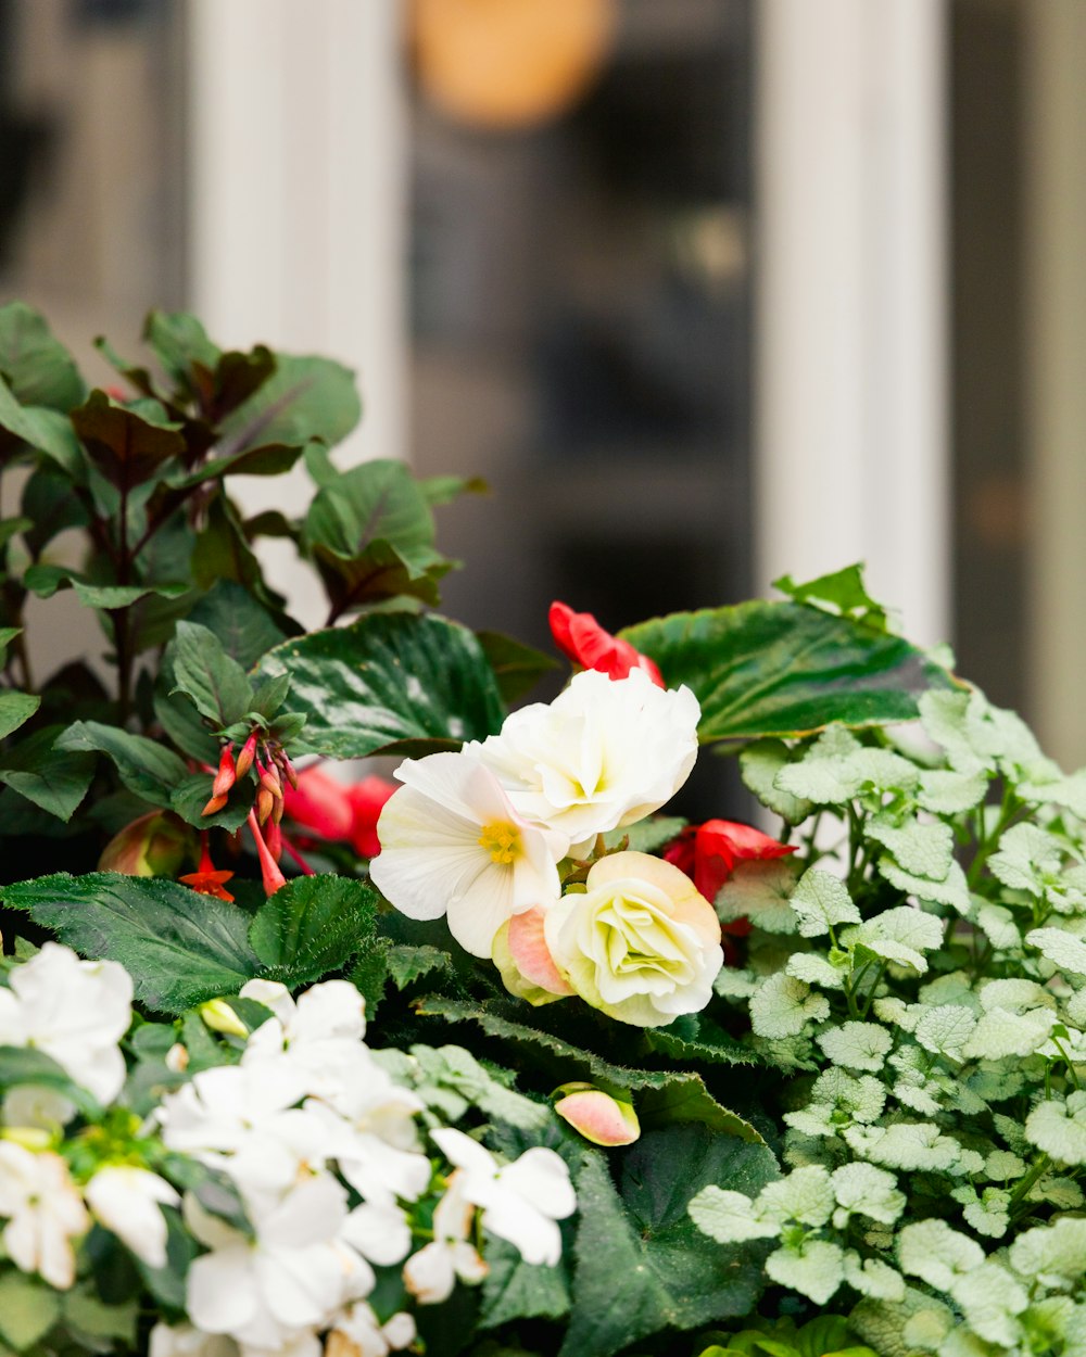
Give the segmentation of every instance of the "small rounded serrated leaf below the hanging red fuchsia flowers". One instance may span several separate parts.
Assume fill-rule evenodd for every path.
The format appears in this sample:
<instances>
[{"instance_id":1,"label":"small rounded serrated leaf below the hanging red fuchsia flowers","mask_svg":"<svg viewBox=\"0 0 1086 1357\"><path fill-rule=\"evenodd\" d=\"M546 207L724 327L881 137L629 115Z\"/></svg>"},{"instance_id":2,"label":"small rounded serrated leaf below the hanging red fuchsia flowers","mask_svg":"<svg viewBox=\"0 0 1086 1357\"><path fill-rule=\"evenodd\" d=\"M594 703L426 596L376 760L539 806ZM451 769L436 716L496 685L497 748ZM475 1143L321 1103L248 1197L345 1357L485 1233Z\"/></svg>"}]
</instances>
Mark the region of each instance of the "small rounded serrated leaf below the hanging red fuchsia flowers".
<instances>
[{"instance_id":1,"label":"small rounded serrated leaf below the hanging red fuchsia flowers","mask_svg":"<svg viewBox=\"0 0 1086 1357\"><path fill-rule=\"evenodd\" d=\"M342 970L372 935L376 902L364 881L297 877L261 905L248 940L277 980L289 985L319 980Z\"/></svg>"}]
</instances>

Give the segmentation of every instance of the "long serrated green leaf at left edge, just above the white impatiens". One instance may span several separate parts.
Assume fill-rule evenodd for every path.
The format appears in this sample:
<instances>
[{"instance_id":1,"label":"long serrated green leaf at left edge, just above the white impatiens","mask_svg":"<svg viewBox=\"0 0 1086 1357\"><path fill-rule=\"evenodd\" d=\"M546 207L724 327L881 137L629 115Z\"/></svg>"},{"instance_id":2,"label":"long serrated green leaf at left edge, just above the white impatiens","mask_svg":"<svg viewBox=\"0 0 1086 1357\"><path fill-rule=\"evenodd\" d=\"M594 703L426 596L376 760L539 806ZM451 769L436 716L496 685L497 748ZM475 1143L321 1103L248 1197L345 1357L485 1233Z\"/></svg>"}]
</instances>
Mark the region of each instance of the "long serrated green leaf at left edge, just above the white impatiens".
<instances>
[{"instance_id":1,"label":"long serrated green leaf at left edge, just above the white impatiens","mask_svg":"<svg viewBox=\"0 0 1086 1357\"><path fill-rule=\"evenodd\" d=\"M58 873L4 886L3 898L84 957L119 961L136 997L156 1012L236 995L259 970L248 916L172 881Z\"/></svg>"}]
</instances>

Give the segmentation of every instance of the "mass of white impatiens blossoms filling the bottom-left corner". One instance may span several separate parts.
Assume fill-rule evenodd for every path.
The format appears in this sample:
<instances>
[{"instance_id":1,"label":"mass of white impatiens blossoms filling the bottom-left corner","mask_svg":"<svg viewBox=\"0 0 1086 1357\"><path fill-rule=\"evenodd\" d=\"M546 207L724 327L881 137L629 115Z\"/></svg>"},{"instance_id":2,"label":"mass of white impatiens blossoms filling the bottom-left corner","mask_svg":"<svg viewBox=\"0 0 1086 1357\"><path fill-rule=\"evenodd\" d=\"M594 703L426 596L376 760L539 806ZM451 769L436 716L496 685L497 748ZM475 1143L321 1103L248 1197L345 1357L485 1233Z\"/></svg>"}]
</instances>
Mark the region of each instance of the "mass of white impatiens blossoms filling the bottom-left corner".
<instances>
[{"instance_id":1,"label":"mass of white impatiens blossoms filling the bottom-left corner","mask_svg":"<svg viewBox=\"0 0 1086 1357\"><path fill-rule=\"evenodd\" d=\"M12 970L10 985L0 988L0 1046L37 1046L103 1105L114 1099L125 1079L118 1042L132 1018L125 970L46 944ZM500 1164L462 1132L432 1129L434 1158L453 1166L444 1182L417 1120L424 1103L365 1045L364 1001L352 984L327 981L293 1000L284 985L254 980L242 996L272 1016L240 1061L202 1069L166 1095L136 1144L159 1144L224 1175L250 1228L210 1213L191 1191L182 1198L130 1162L138 1155L76 1182L58 1139L75 1107L60 1107L52 1128L16 1124L24 1109L12 1094L0 1128L0 1228L16 1267L72 1286L80 1239L95 1220L163 1267L162 1208L179 1206L204 1251L187 1270L186 1322L156 1324L152 1357L318 1357L324 1343L337 1357L386 1357L407 1346L415 1327L406 1311L381 1322L371 1308L375 1266L403 1265L417 1303L441 1301L457 1277L486 1274L471 1243L476 1216L527 1261L558 1262L557 1221L576 1206L558 1155L529 1149ZM424 1197L433 1238L413 1251L410 1210Z\"/></svg>"}]
</instances>

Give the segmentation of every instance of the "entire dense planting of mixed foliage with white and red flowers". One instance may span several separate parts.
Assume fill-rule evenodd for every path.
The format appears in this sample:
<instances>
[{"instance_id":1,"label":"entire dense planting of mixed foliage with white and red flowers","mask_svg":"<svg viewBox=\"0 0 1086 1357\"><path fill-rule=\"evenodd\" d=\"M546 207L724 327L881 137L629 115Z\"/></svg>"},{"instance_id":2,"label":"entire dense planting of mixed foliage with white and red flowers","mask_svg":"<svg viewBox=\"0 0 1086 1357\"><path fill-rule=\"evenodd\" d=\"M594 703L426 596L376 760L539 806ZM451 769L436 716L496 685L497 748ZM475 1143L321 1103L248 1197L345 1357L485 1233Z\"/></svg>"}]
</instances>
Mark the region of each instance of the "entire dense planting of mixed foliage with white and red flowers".
<instances>
[{"instance_id":1,"label":"entire dense planting of mixed foliage with white and red flowers","mask_svg":"<svg viewBox=\"0 0 1086 1357\"><path fill-rule=\"evenodd\" d=\"M855 567L557 604L525 706L430 611L474 483L337 471L327 360L145 339L87 392L0 309L0 1357L1086 1350L1086 778ZM111 676L38 687L68 589ZM763 829L667 814L707 745Z\"/></svg>"}]
</instances>

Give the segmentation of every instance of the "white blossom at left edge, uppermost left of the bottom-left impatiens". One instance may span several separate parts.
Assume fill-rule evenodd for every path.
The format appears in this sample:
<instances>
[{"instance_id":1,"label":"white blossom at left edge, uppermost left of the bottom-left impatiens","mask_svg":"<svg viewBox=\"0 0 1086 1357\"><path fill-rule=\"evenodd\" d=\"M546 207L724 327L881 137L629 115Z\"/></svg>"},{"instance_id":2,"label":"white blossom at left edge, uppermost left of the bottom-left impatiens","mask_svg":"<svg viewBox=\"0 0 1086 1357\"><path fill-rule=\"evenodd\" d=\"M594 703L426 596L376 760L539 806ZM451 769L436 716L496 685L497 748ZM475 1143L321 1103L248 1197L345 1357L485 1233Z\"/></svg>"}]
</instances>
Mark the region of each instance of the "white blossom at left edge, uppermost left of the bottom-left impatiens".
<instances>
[{"instance_id":1,"label":"white blossom at left edge, uppermost left of the bottom-left impatiens","mask_svg":"<svg viewBox=\"0 0 1086 1357\"><path fill-rule=\"evenodd\" d=\"M132 1022L132 977L115 961L80 961L48 942L0 989L0 1046L34 1046L52 1056L100 1103L125 1082L118 1042Z\"/></svg>"}]
</instances>

